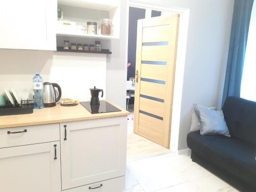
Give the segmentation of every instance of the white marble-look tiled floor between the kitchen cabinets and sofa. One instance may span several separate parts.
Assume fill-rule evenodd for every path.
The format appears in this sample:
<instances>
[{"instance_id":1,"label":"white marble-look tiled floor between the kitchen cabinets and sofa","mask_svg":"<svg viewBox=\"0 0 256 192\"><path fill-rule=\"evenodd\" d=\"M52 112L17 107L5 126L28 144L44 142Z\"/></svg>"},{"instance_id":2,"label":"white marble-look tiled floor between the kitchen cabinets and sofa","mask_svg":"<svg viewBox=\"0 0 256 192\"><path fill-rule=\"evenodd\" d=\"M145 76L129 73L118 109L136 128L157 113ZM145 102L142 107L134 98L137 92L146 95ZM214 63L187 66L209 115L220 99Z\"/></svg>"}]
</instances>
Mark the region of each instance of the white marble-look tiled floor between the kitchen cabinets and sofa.
<instances>
[{"instance_id":1,"label":"white marble-look tiled floor between the kitchen cabinets and sofa","mask_svg":"<svg viewBox=\"0 0 256 192\"><path fill-rule=\"evenodd\" d=\"M187 155L162 155L127 162L125 192L234 192Z\"/></svg>"}]
</instances>

